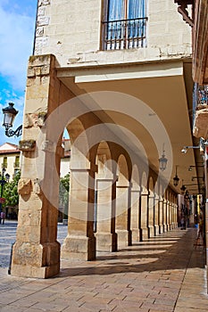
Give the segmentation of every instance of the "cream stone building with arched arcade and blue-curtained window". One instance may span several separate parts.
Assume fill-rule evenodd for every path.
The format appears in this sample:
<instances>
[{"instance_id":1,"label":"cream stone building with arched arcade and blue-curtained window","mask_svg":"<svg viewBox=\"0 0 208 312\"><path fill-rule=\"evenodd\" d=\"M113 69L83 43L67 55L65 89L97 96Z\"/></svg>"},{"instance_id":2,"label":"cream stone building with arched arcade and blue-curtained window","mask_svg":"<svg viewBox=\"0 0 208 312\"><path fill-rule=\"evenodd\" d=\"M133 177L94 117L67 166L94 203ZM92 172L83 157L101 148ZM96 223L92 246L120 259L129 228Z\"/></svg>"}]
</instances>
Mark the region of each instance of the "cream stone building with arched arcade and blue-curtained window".
<instances>
[{"instance_id":1,"label":"cream stone building with arched arcade and blue-curtained window","mask_svg":"<svg viewBox=\"0 0 208 312\"><path fill-rule=\"evenodd\" d=\"M116 251L178 226L180 181L191 181L200 158L194 149L180 153L193 145L191 70L191 29L172 0L38 1L12 275L59 272L66 130L71 187L63 258L96 259L96 250ZM190 192L200 193L200 185Z\"/></svg>"}]
</instances>

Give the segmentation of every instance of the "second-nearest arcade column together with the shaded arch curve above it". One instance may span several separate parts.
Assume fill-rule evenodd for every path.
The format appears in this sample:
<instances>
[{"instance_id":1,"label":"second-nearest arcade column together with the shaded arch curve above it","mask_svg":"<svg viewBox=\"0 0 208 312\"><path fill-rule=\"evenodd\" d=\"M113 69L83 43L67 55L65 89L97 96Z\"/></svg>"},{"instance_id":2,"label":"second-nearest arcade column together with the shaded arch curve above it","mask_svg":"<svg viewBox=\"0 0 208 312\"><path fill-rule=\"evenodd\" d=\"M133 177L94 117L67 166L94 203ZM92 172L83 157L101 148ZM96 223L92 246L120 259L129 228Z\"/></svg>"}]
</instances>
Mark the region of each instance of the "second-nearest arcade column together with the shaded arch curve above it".
<instances>
[{"instance_id":1,"label":"second-nearest arcade column together with the shaded arch curve above it","mask_svg":"<svg viewBox=\"0 0 208 312\"><path fill-rule=\"evenodd\" d=\"M62 244L64 259L96 259L94 225L95 169L90 163L85 127L74 119L71 137L71 181L68 235Z\"/></svg>"}]
</instances>

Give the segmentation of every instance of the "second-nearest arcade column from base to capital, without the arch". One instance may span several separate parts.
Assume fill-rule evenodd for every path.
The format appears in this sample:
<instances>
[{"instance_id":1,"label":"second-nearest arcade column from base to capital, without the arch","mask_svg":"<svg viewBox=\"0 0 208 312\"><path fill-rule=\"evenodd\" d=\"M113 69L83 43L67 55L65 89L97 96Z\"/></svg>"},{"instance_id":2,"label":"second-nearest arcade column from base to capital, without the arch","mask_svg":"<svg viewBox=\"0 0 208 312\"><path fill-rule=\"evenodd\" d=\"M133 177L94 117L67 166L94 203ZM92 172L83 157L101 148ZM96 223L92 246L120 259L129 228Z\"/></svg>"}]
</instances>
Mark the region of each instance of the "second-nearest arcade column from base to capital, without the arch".
<instances>
[{"instance_id":1,"label":"second-nearest arcade column from base to capital, without the arch","mask_svg":"<svg viewBox=\"0 0 208 312\"><path fill-rule=\"evenodd\" d=\"M68 235L62 244L63 259L96 259L94 225L95 172L89 161L71 161Z\"/></svg>"}]
</instances>

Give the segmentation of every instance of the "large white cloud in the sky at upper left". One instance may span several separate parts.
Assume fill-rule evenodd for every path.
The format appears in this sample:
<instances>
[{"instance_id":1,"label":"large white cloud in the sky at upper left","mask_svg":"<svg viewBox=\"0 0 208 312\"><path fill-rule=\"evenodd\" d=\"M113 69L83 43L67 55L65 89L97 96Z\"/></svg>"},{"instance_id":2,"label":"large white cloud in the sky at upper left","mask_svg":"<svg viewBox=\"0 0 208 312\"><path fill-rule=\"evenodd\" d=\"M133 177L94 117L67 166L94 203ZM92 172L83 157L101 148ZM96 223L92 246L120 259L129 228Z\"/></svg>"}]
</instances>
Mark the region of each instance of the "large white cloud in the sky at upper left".
<instances>
[{"instance_id":1,"label":"large white cloud in the sky at upper left","mask_svg":"<svg viewBox=\"0 0 208 312\"><path fill-rule=\"evenodd\" d=\"M6 11L0 2L0 74L15 90L24 90L29 55L32 54L34 17Z\"/></svg>"}]
</instances>

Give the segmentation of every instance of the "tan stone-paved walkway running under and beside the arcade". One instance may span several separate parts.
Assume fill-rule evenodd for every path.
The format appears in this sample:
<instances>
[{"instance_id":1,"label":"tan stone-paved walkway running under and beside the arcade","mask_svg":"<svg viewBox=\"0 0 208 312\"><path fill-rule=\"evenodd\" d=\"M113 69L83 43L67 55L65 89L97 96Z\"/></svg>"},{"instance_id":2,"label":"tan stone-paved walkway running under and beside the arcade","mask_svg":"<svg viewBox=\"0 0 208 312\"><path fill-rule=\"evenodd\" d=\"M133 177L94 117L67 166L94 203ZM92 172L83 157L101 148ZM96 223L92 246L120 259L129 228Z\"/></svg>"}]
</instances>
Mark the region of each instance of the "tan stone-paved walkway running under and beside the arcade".
<instances>
[{"instance_id":1,"label":"tan stone-paved walkway running under and beside the arcade","mask_svg":"<svg viewBox=\"0 0 208 312\"><path fill-rule=\"evenodd\" d=\"M96 261L62 260L47 280L0 268L0 311L205 312L204 248L195 241L195 229L177 229Z\"/></svg>"}]
</instances>

